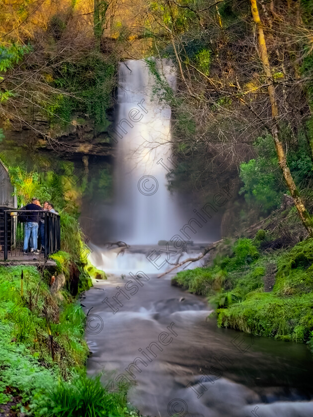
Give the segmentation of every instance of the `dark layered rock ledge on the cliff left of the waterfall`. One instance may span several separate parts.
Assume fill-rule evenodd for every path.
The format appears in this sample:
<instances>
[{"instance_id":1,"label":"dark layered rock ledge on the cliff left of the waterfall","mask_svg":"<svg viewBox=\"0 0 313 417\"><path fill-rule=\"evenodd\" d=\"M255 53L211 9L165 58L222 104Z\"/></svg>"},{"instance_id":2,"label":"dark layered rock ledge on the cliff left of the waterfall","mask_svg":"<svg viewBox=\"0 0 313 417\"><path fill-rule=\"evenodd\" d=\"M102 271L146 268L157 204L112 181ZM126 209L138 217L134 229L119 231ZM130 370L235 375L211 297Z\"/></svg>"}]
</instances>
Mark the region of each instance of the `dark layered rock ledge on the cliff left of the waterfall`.
<instances>
[{"instance_id":1,"label":"dark layered rock ledge on the cliff left of the waterfall","mask_svg":"<svg viewBox=\"0 0 313 417\"><path fill-rule=\"evenodd\" d=\"M13 122L4 131L5 146L22 146L29 150L54 151L68 160L81 160L88 156L108 157L112 145L107 132L110 122L102 129L95 128L91 119L74 115L65 128L52 128L39 112L24 112L22 122Z\"/></svg>"}]
</instances>

